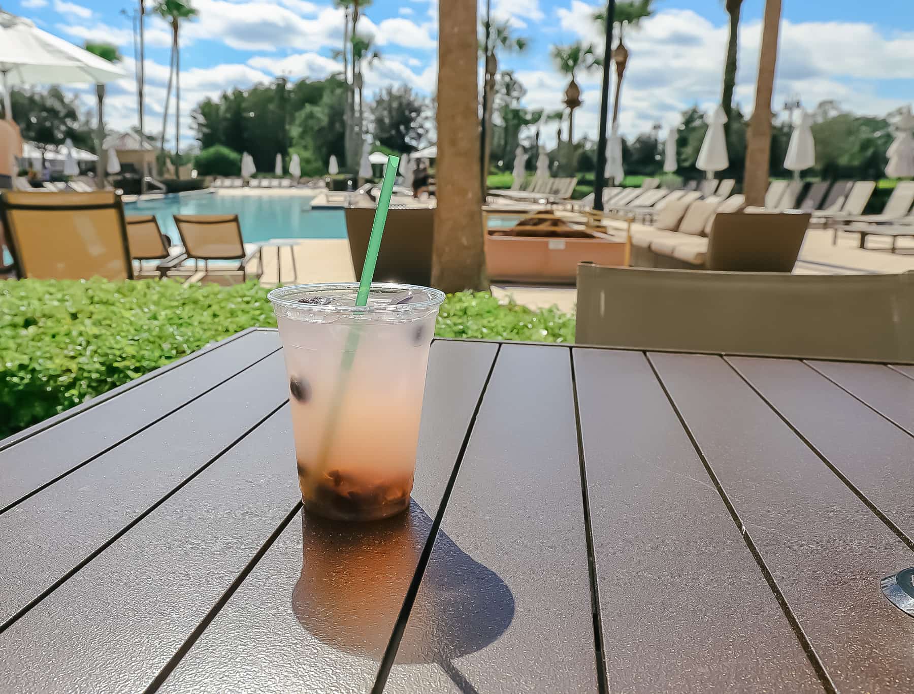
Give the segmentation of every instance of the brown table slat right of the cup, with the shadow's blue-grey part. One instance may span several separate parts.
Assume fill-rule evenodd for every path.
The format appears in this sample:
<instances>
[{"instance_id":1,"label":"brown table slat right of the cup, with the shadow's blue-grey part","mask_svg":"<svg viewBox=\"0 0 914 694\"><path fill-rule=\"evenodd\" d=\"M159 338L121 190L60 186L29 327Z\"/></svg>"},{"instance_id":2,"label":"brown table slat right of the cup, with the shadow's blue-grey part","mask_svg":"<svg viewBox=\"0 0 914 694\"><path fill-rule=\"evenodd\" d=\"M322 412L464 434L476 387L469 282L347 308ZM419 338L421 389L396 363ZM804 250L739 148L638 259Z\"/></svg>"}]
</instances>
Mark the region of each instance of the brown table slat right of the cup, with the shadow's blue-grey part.
<instances>
[{"instance_id":1,"label":"brown table slat right of the cup, with the shadow's blue-grey part","mask_svg":"<svg viewBox=\"0 0 914 694\"><path fill-rule=\"evenodd\" d=\"M385 691L596 689L569 350L503 345Z\"/></svg>"}]
</instances>

